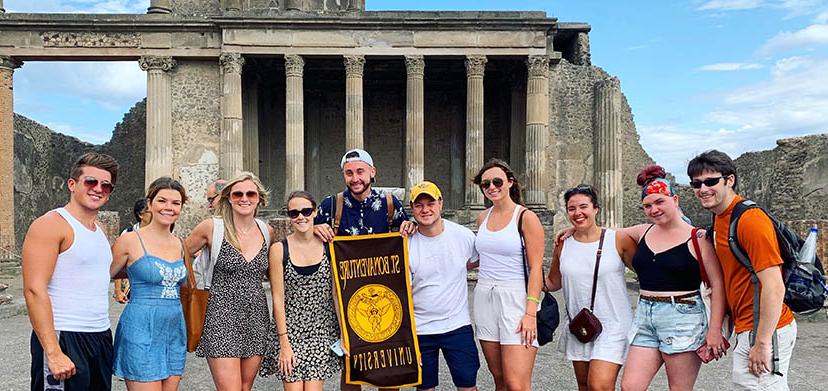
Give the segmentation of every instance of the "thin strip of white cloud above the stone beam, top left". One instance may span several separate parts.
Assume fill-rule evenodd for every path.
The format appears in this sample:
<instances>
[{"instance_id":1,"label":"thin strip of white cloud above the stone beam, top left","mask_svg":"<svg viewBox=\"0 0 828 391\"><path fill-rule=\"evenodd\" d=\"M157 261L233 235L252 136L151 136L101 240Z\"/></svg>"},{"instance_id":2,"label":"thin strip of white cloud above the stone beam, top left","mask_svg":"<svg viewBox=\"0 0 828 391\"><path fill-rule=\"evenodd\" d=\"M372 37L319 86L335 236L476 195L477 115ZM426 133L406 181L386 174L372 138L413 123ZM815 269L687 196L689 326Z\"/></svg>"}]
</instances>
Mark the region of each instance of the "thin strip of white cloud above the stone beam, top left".
<instances>
[{"instance_id":1,"label":"thin strip of white cloud above the stone beam, top left","mask_svg":"<svg viewBox=\"0 0 828 391\"><path fill-rule=\"evenodd\" d=\"M7 0L8 12L143 14L149 0Z\"/></svg>"}]
</instances>

